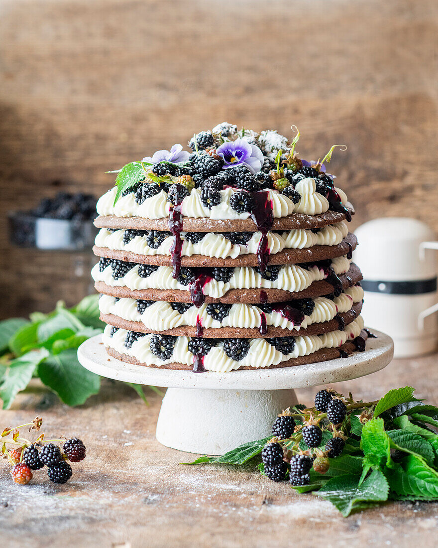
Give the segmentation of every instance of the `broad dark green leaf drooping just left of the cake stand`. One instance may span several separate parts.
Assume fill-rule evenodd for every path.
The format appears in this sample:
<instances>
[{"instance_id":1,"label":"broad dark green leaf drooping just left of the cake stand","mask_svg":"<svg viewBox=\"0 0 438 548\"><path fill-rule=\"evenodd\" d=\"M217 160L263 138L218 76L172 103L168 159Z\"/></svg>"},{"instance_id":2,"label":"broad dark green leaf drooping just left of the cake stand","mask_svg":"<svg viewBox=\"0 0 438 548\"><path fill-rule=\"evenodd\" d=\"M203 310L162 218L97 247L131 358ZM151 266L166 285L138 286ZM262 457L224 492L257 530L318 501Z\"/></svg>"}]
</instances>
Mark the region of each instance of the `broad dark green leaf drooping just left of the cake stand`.
<instances>
[{"instance_id":1,"label":"broad dark green leaf drooping just left of the cake stand","mask_svg":"<svg viewBox=\"0 0 438 548\"><path fill-rule=\"evenodd\" d=\"M42 382L69 406L78 406L99 392L99 375L81 366L76 348L45 359L38 366L38 374Z\"/></svg>"}]
</instances>

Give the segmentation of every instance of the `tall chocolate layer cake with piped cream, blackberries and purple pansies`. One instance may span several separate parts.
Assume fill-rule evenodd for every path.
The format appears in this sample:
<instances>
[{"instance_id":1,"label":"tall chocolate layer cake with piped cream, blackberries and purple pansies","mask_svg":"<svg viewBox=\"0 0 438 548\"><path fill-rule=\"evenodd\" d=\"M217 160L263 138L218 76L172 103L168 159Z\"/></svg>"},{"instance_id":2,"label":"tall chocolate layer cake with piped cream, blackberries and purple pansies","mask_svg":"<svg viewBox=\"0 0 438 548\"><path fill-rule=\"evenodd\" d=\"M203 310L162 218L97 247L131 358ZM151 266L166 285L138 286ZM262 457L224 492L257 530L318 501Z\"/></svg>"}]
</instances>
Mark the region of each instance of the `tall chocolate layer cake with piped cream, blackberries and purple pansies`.
<instances>
[{"instance_id":1,"label":"tall chocolate layer cake with piped cream, blackberries and purple pansies","mask_svg":"<svg viewBox=\"0 0 438 548\"><path fill-rule=\"evenodd\" d=\"M111 356L223 373L365 349L354 210L326 173L335 147L306 161L298 137L222 123L118 172L92 271Z\"/></svg>"}]
</instances>

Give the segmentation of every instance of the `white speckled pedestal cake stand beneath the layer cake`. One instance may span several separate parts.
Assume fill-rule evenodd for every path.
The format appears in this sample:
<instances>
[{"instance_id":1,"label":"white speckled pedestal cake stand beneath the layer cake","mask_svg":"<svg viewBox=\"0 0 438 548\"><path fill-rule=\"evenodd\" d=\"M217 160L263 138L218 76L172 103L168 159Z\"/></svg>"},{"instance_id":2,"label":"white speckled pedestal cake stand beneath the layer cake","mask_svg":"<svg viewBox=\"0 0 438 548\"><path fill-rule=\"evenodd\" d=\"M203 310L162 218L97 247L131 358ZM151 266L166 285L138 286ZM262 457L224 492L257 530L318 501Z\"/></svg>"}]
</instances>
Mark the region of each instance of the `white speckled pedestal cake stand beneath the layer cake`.
<instances>
[{"instance_id":1,"label":"white speckled pedestal cake stand beneath the layer cake","mask_svg":"<svg viewBox=\"0 0 438 548\"><path fill-rule=\"evenodd\" d=\"M167 386L156 436L167 447L220 455L267 436L275 416L297 403L295 388L328 385L383 369L393 358L392 339L373 329L365 352L348 358L278 369L192 373L135 366L108 356L102 336L80 345L82 365L110 379Z\"/></svg>"}]
</instances>

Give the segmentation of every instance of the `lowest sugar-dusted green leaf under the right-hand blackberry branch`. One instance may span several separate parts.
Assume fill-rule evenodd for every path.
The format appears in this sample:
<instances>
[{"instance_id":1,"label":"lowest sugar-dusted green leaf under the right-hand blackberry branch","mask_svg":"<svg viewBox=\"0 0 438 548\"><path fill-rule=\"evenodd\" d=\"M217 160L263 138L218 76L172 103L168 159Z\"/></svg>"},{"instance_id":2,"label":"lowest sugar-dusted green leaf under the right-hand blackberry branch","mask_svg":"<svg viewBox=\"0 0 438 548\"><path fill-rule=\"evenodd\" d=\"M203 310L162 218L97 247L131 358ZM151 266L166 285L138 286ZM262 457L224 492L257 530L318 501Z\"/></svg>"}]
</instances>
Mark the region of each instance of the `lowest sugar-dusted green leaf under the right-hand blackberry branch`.
<instances>
[{"instance_id":1,"label":"lowest sugar-dusted green leaf under the right-hand blackberry branch","mask_svg":"<svg viewBox=\"0 0 438 548\"><path fill-rule=\"evenodd\" d=\"M344 517L351 512L363 510L388 499L389 486L380 470L371 472L359 486L359 476L344 475L330 479L316 492L317 496L329 500Z\"/></svg>"}]
</instances>

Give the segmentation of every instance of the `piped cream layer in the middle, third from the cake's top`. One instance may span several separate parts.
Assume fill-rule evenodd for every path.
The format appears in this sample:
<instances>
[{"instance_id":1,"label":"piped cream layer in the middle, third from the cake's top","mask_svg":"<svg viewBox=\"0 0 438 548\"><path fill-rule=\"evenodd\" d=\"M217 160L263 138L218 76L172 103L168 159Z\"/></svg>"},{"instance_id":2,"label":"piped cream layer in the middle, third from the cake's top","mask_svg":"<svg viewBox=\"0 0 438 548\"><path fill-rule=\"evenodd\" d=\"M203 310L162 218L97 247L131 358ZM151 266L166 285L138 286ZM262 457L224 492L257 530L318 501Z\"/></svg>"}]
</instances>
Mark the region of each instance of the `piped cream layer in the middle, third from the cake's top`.
<instances>
[{"instance_id":1,"label":"piped cream layer in the middle, third from the cake's top","mask_svg":"<svg viewBox=\"0 0 438 548\"><path fill-rule=\"evenodd\" d=\"M336 274L343 274L350 268L351 259L346 256L332 259L331 266ZM147 278L139 276L139 266L135 265L124 276L114 279L111 265L99 271L99 264L91 270L91 276L95 282L104 282L110 287L128 287L134 289L181 289L188 291L189 286L183 286L177 279L172 278L172 267L159 266ZM218 282L211 279L203 286L204 295L219 298L229 289L284 289L285 291L298 292L317 280L326 278L324 270L314 265L309 269L303 269L298 265L283 265L280 267L278 277L274 281L263 279L251 266L237 266L229 282Z\"/></svg>"}]
</instances>

